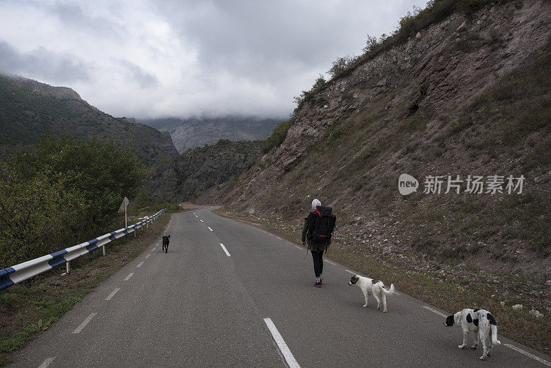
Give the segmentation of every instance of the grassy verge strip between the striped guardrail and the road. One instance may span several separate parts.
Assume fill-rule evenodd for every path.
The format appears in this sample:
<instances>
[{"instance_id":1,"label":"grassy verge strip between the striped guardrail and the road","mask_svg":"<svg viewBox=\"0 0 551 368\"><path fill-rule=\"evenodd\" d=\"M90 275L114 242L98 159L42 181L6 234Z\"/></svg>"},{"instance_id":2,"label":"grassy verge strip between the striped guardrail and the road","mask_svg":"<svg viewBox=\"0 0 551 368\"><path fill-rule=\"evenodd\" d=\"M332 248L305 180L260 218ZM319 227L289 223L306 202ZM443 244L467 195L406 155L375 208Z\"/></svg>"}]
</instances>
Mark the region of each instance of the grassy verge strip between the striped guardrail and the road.
<instances>
[{"instance_id":1,"label":"grassy verge strip between the striped guardrail and the road","mask_svg":"<svg viewBox=\"0 0 551 368\"><path fill-rule=\"evenodd\" d=\"M149 229L138 230L136 238L131 234L109 243L106 256L96 249L72 260L70 274L59 276L63 267L56 267L0 292L0 366L105 278L140 255L162 234L169 218L170 214L164 213Z\"/></svg>"}]
</instances>

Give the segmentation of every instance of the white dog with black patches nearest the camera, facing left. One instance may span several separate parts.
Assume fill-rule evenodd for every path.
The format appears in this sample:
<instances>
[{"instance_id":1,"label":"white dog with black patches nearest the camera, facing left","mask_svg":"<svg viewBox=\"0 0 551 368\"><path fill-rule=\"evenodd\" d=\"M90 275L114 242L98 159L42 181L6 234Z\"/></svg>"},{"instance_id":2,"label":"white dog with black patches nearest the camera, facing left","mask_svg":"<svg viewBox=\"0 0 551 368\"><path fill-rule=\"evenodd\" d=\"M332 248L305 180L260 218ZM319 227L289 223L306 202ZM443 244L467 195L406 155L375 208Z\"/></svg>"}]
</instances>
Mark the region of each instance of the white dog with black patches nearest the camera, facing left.
<instances>
[{"instance_id":1,"label":"white dog with black patches nearest the camera, facing left","mask_svg":"<svg viewBox=\"0 0 551 368\"><path fill-rule=\"evenodd\" d=\"M494 316L489 311L466 308L448 316L444 322L444 326L459 325L463 329L463 344L459 345L459 349L467 346L467 334L472 332L475 334L475 344L470 348L477 349L479 341L482 343L484 351L480 357L481 360L490 356L494 345L501 345L497 340L497 325Z\"/></svg>"}]
</instances>

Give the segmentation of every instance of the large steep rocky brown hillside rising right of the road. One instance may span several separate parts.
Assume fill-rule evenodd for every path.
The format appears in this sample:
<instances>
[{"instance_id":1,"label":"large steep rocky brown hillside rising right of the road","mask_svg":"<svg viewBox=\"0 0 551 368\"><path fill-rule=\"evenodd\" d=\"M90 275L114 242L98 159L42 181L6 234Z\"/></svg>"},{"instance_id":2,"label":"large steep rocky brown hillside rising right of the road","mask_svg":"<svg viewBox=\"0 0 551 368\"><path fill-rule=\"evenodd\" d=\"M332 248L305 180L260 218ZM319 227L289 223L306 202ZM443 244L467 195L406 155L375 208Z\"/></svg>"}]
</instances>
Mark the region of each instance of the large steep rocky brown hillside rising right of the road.
<instances>
[{"instance_id":1,"label":"large steep rocky brown hillside rising right of the road","mask_svg":"<svg viewBox=\"0 0 551 368\"><path fill-rule=\"evenodd\" d=\"M442 3L454 2L431 11ZM316 197L350 252L549 277L551 3L480 3L414 19L409 37L307 95L284 141L216 200L298 229ZM399 193L401 174L417 192Z\"/></svg>"}]
</instances>

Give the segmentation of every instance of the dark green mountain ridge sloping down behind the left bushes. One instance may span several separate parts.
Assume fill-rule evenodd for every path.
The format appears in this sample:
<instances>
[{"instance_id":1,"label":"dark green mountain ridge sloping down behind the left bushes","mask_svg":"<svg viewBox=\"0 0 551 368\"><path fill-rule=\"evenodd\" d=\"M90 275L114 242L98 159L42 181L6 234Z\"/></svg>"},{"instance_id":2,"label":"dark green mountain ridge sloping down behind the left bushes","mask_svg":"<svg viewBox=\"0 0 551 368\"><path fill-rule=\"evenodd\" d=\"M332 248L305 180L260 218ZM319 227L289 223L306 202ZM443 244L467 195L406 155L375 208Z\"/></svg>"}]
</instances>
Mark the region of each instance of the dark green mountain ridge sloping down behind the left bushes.
<instances>
[{"instance_id":1,"label":"dark green mountain ridge sloping down behind the left bushes","mask_svg":"<svg viewBox=\"0 0 551 368\"><path fill-rule=\"evenodd\" d=\"M37 142L45 132L83 139L95 136L129 147L151 165L178 155L167 132L132 118L114 118L90 105L74 90L0 75L0 150Z\"/></svg>"}]
</instances>

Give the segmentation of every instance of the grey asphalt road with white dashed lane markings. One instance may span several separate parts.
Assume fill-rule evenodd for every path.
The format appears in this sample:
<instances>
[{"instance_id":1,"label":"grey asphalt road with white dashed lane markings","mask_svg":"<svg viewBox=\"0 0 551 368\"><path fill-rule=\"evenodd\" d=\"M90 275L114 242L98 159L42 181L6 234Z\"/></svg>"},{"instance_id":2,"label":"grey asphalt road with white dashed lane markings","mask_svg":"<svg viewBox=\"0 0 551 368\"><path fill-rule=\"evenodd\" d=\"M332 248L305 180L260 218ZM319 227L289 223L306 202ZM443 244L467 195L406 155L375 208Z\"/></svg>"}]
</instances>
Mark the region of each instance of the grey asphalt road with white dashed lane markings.
<instances>
[{"instance_id":1,"label":"grey asphalt road with white dashed lane markings","mask_svg":"<svg viewBox=\"0 0 551 368\"><path fill-rule=\"evenodd\" d=\"M355 272L328 258L316 288L304 248L209 208L174 214L165 233L167 254L147 247L10 367L551 366L503 336L481 361L457 348L446 312L402 292L387 314L373 297L363 308Z\"/></svg>"}]
</instances>

